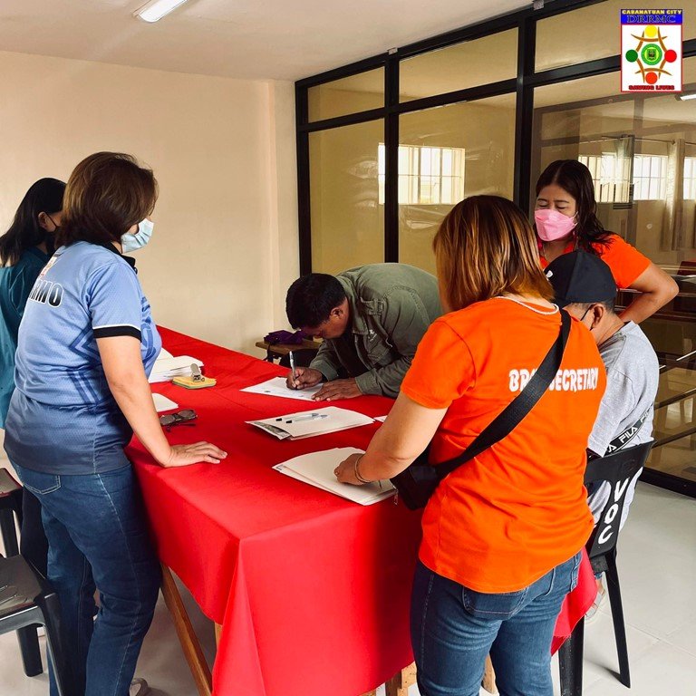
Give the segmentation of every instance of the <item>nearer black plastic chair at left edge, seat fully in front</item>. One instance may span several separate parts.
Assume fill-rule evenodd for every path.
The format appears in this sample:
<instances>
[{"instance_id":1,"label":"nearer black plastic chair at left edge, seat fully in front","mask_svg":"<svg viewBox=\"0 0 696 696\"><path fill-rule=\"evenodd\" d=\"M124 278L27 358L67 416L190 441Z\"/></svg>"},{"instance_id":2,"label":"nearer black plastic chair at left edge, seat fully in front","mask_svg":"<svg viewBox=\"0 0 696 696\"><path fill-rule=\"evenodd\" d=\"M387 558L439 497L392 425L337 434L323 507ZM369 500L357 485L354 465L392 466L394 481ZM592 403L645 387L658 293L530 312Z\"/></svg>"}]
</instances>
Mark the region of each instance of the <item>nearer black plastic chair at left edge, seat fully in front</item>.
<instances>
[{"instance_id":1,"label":"nearer black plastic chair at left edge, seat fully in front","mask_svg":"<svg viewBox=\"0 0 696 696\"><path fill-rule=\"evenodd\" d=\"M58 692L61 696L73 696L61 638L58 595L22 556L0 556L0 633L19 632L36 623L42 624L46 630ZM35 635L35 629L31 630Z\"/></svg>"}]
</instances>

